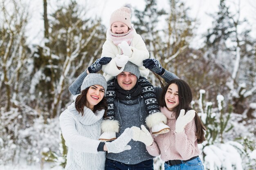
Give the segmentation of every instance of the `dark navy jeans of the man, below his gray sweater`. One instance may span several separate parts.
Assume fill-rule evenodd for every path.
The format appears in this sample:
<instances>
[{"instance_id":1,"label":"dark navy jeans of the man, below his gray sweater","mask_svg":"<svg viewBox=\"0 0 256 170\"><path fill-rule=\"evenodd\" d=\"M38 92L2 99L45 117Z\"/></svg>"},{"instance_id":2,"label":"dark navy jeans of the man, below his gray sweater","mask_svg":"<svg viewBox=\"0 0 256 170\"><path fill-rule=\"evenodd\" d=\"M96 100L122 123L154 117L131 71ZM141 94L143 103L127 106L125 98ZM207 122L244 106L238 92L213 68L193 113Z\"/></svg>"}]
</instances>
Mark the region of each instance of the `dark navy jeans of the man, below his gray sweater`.
<instances>
[{"instance_id":1,"label":"dark navy jeans of the man, below his gray sweater","mask_svg":"<svg viewBox=\"0 0 256 170\"><path fill-rule=\"evenodd\" d=\"M153 159L137 164L125 164L111 159L106 159L105 170L153 170Z\"/></svg>"}]
</instances>

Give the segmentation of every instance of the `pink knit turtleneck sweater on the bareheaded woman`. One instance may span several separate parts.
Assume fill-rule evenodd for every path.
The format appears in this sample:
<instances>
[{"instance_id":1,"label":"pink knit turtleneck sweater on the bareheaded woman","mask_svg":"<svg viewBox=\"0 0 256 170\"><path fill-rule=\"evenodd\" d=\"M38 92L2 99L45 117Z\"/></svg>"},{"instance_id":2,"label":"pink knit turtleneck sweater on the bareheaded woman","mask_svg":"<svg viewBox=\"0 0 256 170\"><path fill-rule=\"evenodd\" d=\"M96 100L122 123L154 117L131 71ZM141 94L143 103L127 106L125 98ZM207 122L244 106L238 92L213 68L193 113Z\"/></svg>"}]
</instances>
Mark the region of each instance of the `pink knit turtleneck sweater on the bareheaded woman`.
<instances>
[{"instance_id":1,"label":"pink knit turtleneck sweater on the bareheaded woman","mask_svg":"<svg viewBox=\"0 0 256 170\"><path fill-rule=\"evenodd\" d=\"M167 125L171 128L170 132L157 135L151 146L147 146L148 153L153 156L161 154L161 159L168 160L188 160L191 157L198 156L200 150L198 148L197 137L195 136L195 121L189 122L181 133L175 132L176 119L172 117L171 111L166 107L160 108L161 112L167 117Z\"/></svg>"}]
</instances>

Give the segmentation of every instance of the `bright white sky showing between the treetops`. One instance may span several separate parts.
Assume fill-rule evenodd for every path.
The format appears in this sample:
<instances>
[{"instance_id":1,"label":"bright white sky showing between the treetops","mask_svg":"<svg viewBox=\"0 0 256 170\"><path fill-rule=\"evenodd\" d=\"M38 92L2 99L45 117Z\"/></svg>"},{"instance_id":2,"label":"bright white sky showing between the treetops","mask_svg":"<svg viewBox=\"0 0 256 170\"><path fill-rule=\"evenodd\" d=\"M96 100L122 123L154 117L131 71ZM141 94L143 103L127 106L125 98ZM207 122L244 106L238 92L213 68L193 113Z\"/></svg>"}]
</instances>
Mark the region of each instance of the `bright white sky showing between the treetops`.
<instances>
[{"instance_id":1,"label":"bright white sky showing between the treetops","mask_svg":"<svg viewBox=\"0 0 256 170\"><path fill-rule=\"evenodd\" d=\"M29 44L39 44L43 38L43 0L27 0L30 2L31 22L28 26ZM94 16L101 17L103 24L108 26L110 15L113 11L122 7L124 4L131 4L132 7L144 9L144 0L77 0L81 6L86 7L88 13ZM218 10L219 0L183 0L187 7L191 9L189 16L197 18L200 25L196 33L199 35L194 39L194 42L202 42L202 33L206 33L207 29L211 27L213 18L209 17L207 13L213 13ZM256 1L255 0L227 0L227 4L233 11L237 11L240 1L241 18L246 17L252 24L252 29L256 30ZM68 3L69 0L48 0L48 12L56 9L58 3ZM159 8L168 7L168 0L158 0ZM256 31L253 31L252 36L256 38ZM199 43L200 44L200 43Z\"/></svg>"}]
</instances>

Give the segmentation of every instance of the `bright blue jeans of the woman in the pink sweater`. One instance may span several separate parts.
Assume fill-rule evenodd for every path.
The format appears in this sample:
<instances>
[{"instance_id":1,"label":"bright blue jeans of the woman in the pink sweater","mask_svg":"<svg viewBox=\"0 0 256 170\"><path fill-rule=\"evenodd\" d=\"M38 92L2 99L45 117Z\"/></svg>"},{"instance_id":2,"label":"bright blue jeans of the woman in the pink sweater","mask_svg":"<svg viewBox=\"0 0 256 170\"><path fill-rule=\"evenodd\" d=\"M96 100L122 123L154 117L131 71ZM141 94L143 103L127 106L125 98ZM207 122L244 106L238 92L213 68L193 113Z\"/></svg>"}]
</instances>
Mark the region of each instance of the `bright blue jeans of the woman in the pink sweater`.
<instances>
[{"instance_id":1,"label":"bright blue jeans of the woman in the pink sweater","mask_svg":"<svg viewBox=\"0 0 256 170\"><path fill-rule=\"evenodd\" d=\"M183 162L178 165L168 165L164 163L164 170L204 170L204 166L199 157L191 161Z\"/></svg>"}]
</instances>

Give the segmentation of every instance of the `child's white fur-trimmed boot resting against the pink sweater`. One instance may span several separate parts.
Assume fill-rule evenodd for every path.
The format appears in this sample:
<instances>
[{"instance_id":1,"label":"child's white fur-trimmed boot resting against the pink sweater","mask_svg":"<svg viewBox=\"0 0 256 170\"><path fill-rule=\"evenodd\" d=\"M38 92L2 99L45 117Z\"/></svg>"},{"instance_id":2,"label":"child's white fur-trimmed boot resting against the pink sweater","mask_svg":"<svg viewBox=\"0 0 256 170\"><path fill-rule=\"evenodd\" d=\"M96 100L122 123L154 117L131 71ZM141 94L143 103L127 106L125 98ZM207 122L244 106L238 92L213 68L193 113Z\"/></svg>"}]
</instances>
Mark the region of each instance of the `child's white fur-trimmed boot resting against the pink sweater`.
<instances>
[{"instance_id":1,"label":"child's white fur-trimmed boot resting against the pink sweater","mask_svg":"<svg viewBox=\"0 0 256 170\"><path fill-rule=\"evenodd\" d=\"M146 117L146 124L148 128L152 130L153 135L160 135L164 133L168 133L170 131L170 127L166 125L167 118L161 113L153 113Z\"/></svg>"}]
</instances>

